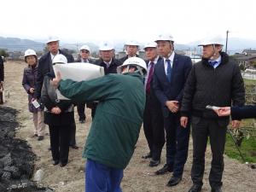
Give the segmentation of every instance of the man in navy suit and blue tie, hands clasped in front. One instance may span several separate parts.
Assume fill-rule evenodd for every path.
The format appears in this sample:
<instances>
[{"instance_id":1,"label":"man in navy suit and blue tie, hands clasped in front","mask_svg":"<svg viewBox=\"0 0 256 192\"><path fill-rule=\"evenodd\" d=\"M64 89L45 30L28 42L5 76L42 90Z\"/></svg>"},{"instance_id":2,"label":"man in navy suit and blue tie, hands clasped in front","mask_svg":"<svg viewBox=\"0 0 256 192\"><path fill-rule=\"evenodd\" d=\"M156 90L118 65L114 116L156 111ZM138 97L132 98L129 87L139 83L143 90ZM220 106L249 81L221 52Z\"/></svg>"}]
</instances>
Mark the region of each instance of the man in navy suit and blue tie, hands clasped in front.
<instances>
[{"instance_id":1,"label":"man in navy suit and blue tie, hands clasped in front","mask_svg":"<svg viewBox=\"0 0 256 192\"><path fill-rule=\"evenodd\" d=\"M181 127L179 109L192 62L188 56L174 52L172 35L160 35L155 42L163 60L154 67L154 91L161 103L166 130L166 165L156 174L173 172L167 185L174 186L182 179L188 156L189 128Z\"/></svg>"}]
</instances>

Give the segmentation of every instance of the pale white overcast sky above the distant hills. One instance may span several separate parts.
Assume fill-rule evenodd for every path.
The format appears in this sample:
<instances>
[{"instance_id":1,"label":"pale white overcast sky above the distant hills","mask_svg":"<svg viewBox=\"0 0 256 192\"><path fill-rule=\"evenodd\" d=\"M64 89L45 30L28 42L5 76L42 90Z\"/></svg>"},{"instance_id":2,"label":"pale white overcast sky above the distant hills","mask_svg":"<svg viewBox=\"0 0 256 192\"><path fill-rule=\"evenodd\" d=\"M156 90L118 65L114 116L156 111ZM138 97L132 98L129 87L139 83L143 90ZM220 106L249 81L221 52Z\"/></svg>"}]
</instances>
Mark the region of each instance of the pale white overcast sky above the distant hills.
<instances>
[{"instance_id":1,"label":"pale white overcast sky above the distant hills","mask_svg":"<svg viewBox=\"0 0 256 192\"><path fill-rule=\"evenodd\" d=\"M0 36L68 43L148 42L170 32L177 44L207 35L256 39L254 0L3 0Z\"/></svg>"}]
</instances>

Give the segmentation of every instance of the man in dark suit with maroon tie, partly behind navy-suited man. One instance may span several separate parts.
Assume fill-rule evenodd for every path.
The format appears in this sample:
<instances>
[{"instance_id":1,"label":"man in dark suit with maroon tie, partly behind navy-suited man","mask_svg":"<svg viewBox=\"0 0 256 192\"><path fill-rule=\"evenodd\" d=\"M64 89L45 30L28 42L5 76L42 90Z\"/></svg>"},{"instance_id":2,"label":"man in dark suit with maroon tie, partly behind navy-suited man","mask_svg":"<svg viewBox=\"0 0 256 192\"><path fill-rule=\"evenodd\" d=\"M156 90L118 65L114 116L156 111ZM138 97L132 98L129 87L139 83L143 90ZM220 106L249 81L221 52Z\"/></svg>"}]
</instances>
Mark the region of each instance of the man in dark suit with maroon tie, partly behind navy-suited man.
<instances>
[{"instance_id":1,"label":"man in dark suit with maroon tie, partly behind navy-suited man","mask_svg":"<svg viewBox=\"0 0 256 192\"><path fill-rule=\"evenodd\" d=\"M164 119L160 107L160 102L154 94L153 73L155 64L161 60L157 55L156 43L148 43L144 46L147 63L147 75L145 77L146 105L143 117L143 129L148 141L149 153L143 155L144 159L152 158L149 166L158 166L162 148L165 144Z\"/></svg>"}]
</instances>

